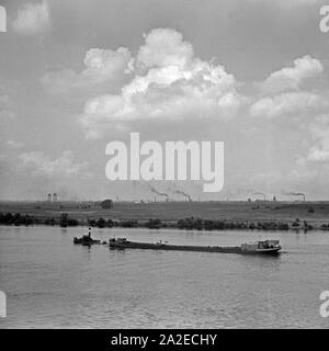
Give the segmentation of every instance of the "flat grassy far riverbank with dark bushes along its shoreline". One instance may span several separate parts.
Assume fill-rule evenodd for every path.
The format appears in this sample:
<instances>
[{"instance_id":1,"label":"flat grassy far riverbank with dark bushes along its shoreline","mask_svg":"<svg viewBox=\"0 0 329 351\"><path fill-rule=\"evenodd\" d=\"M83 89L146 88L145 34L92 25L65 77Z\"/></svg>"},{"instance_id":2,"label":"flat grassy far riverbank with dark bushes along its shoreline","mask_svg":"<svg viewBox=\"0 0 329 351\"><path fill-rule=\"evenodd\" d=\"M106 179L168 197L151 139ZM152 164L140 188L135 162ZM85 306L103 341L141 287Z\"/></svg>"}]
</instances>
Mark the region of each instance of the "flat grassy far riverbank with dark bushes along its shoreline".
<instances>
[{"instance_id":1,"label":"flat grassy far riverbank with dark bushes along its shoreline","mask_svg":"<svg viewBox=\"0 0 329 351\"><path fill-rule=\"evenodd\" d=\"M329 203L127 202L104 210L100 207L100 203L93 202L2 202L0 225L184 230L329 230Z\"/></svg>"}]
</instances>

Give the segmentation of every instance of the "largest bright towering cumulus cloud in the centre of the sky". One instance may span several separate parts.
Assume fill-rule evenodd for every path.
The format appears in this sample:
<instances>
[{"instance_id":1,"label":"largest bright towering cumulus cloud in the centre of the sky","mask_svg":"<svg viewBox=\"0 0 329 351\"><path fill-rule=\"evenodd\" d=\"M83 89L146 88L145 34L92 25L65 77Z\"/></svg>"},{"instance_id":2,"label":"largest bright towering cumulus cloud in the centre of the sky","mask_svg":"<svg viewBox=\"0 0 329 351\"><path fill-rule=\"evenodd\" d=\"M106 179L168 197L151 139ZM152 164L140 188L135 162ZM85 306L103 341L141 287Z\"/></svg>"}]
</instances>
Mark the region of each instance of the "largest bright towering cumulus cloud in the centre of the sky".
<instances>
[{"instance_id":1,"label":"largest bright towering cumulus cloud in the centre of the sky","mask_svg":"<svg viewBox=\"0 0 329 351\"><path fill-rule=\"evenodd\" d=\"M194 56L181 33L157 29L145 35L134 59L134 77L121 94L90 99L81 123L98 137L113 122L234 116L242 102L237 82L223 66Z\"/></svg>"}]
</instances>

